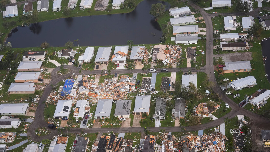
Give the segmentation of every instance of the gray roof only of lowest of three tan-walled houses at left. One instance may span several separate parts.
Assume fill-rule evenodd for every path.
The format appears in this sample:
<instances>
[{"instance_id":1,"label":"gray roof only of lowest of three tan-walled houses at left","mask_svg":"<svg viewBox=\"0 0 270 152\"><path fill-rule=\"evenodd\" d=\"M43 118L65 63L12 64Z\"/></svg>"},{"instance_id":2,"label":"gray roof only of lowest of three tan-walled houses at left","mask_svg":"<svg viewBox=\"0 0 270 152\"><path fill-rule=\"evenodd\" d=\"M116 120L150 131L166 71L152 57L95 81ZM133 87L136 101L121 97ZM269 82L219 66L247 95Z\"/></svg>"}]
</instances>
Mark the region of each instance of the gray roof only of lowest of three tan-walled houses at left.
<instances>
[{"instance_id":1,"label":"gray roof only of lowest of three tan-walled houses at left","mask_svg":"<svg viewBox=\"0 0 270 152\"><path fill-rule=\"evenodd\" d=\"M35 83L11 83L8 88L8 92L13 91L35 91L36 88L34 87Z\"/></svg>"}]
</instances>

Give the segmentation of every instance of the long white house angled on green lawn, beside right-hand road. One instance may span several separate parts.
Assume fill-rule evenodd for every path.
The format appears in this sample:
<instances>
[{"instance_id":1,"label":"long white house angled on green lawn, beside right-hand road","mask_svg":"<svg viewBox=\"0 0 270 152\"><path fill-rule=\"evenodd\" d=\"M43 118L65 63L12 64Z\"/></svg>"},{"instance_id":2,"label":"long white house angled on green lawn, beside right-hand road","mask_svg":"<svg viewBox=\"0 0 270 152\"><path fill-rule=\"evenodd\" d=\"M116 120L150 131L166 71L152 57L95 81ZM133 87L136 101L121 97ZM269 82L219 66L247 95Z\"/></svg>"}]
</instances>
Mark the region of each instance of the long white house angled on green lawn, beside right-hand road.
<instances>
[{"instance_id":1,"label":"long white house angled on green lawn, beside right-hand road","mask_svg":"<svg viewBox=\"0 0 270 152\"><path fill-rule=\"evenodd\" d=\"M231 82L231 87L232 89L236 90L241 90L245 87L253 87L254 85L257 85L256 83L256 79L254 76L248 76L248 77L244 77L242 79L236 80L234 82Z\"/></svg>"}]
</instances>

